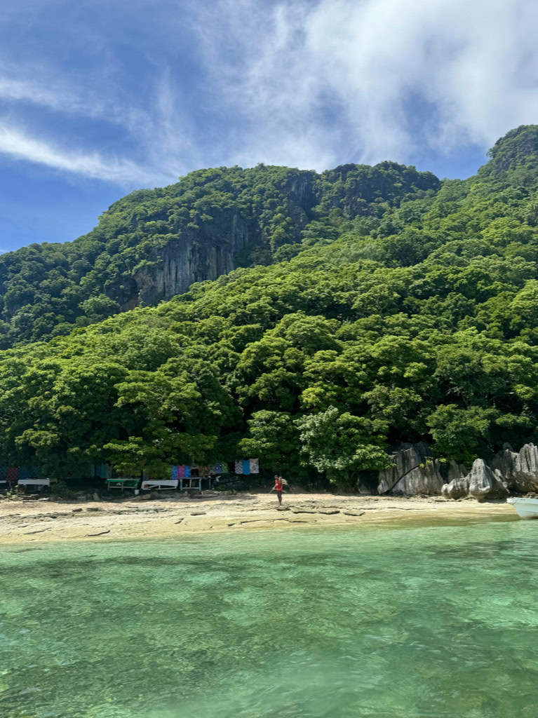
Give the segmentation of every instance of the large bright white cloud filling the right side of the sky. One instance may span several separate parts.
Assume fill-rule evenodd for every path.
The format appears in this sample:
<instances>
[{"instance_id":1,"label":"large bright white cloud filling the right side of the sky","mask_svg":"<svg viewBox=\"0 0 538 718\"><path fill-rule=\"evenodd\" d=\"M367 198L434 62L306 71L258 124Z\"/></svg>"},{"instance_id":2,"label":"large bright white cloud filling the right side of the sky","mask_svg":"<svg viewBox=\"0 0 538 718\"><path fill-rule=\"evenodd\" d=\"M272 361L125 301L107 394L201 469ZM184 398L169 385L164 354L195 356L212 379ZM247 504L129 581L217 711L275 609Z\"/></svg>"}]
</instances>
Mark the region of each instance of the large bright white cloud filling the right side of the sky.
<instances>
[{"instance_id":1,"label":"large bright white cloud filling the right side of the sky","mask_svg":"<svg viewBox=\"0 0 538 718\"><path fill-rule=\"evenodd\" d=\"M269 10L226 0L220 8L223 32L206 13L202 40L215 80L251 118L236 148L251 162L321 168L468 142L486 149L538 121L538 4L527 0L287 0ZM235 45L239 60L228 73L223 45Z\"/></svg>"}]
</instances>

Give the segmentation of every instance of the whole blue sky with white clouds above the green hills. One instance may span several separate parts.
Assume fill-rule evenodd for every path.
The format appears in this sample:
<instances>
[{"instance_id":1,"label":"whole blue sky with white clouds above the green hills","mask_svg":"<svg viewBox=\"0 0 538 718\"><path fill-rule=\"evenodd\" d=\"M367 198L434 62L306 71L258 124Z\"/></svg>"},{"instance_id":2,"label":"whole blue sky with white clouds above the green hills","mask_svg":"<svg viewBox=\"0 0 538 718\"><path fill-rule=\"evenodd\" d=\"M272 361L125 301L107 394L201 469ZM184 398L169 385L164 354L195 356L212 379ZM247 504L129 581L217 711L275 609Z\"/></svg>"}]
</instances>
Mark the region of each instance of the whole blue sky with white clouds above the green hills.
<instances>
[{"instance_id":1,"label":"whole blue sky with white clouds above the green hills","mask_svg":"<svg viewBox=\"0 0 538 718\"><path fill-rule=\"evenodd\" d=\"M0 251L193 169L468 177L538 122L534 0L2 0Z\"/></svg>"}]
</instances>

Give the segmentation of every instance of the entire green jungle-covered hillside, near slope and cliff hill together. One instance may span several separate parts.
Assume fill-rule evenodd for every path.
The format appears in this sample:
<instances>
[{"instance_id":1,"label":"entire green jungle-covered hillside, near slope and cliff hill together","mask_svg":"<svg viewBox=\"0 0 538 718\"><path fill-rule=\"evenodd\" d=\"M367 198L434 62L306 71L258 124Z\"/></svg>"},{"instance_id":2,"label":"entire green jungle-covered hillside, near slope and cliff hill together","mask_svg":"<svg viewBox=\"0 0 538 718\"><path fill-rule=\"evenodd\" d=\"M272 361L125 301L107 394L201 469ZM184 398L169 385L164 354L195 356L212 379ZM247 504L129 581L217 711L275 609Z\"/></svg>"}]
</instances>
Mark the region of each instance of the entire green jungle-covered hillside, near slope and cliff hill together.
<instances>
[{"instance_id":1,"label":"entire green jungle-covered hillside, near slope and cliff hill together","mask_svg":"<svg viewBox=\"0 0 538 718\"><path fill-rule=\"evenodd\" d=\"M488 154L467 180L199 170L0 256L0 463L353 485L401 442L537 442L538 126Z\"/></svg>"}]
</instances>

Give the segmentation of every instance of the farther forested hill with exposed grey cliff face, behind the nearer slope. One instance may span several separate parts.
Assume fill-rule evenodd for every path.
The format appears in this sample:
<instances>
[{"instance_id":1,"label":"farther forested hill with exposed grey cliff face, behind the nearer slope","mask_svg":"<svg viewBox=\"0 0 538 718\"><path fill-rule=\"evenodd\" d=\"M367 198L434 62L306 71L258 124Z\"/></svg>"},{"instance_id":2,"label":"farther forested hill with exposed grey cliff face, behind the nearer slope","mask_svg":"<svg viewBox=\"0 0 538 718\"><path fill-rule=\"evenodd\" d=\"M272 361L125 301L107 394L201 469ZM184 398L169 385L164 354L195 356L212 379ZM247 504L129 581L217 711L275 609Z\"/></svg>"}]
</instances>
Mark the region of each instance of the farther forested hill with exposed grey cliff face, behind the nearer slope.
<instances>
[{"instance_id":1,"label":"farther forested hill with exposed grey cliff face, behind the nearer slope","mask_svg":"<svg viewBox=\"0 0 538 718\"><path fill-rule=\"evenodd\" d=\"M170 187L131 192L74 242L0 256L0 348L65 335L238 266L272 264L346 230L364 231L353 220L379 220L439 188L430 172L382 162L323 174L200 169Z\"/></svg>"}]
</instances>

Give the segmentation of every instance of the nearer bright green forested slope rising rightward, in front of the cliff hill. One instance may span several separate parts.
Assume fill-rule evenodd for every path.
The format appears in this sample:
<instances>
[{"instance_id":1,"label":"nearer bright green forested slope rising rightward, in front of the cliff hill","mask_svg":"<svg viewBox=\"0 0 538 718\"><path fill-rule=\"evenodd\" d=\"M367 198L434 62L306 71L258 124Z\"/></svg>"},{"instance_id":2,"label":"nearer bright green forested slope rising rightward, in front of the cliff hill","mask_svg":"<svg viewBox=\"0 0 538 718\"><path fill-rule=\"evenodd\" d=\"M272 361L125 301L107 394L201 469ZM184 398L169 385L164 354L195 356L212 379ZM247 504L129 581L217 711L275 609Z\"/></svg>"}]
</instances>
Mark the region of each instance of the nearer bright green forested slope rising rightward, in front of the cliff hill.
<instances>
[{"instance_id":1,"label":"nearer bright green forested slope rising rightward, in front of the cliff hill","mask_svg":"<svg viewBox=\"0 0 538 718\"><path fill-rule=\"evenodd\" d=\"M467 464L537 442L537 150L521 127L469 180L370 196L382 211L354 220L328 209L289 260L0 353L0 463L76 475L256 456L352 484L402 441ZM315 181L344 192L339 172Z\"/></svg>"}]
</instances>

